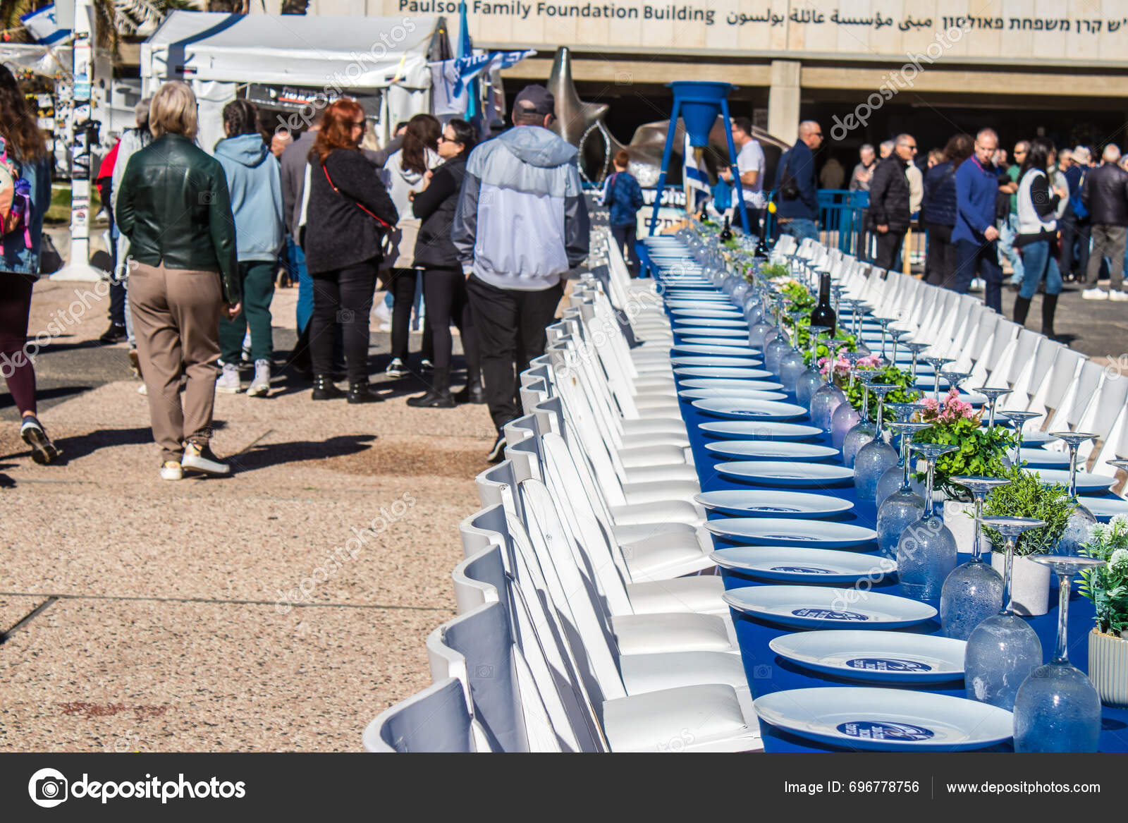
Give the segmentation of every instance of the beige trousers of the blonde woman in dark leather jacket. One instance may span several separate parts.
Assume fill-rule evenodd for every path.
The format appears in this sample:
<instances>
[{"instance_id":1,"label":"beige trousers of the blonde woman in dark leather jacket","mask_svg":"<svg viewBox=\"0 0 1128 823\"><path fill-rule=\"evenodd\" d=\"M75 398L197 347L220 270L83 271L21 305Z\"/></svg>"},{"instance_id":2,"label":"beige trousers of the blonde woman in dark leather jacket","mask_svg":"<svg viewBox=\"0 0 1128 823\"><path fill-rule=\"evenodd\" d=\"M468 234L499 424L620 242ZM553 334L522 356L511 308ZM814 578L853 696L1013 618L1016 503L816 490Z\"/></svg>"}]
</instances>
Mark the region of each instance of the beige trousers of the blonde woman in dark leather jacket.
<instances>
[{"instance_id":1,"label":"beige trousers of the blonde woman in dark leather jacket","mask_svg":"<svg viewBox=\"0 0 1128 823\"><path fill-rule=\"evenodd\" d=\"M211 439L223 305L219 272L138 263L129 288L152 438L161 459L179 461L185 444Z\"/></svg>"}]
</instances>

